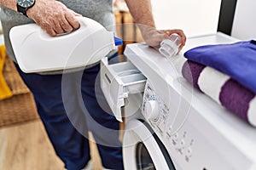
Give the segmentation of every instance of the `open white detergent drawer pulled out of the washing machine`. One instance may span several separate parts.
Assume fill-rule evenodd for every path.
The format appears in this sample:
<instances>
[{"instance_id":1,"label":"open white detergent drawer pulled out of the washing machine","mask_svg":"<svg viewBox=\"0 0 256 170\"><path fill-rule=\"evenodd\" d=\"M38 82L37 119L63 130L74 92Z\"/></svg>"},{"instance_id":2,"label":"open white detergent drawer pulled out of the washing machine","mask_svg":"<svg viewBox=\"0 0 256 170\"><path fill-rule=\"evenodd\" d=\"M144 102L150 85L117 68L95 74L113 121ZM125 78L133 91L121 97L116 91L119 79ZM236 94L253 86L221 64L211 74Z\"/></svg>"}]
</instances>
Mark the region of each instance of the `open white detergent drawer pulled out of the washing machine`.
<instances>
[{"instance_id":1,"label":"open white detergent drawer pulled out of the washing machine","mask_svg":"<svg viewBox=\"0 0 256 170\"><path fill-rule=\"evenodd\" d=\"M108 65L108 58L101 61L101 87L113 115L122 122L121 107L129 94L143 93L146 77L131 62Z\"/></svg>"}]
</instances>

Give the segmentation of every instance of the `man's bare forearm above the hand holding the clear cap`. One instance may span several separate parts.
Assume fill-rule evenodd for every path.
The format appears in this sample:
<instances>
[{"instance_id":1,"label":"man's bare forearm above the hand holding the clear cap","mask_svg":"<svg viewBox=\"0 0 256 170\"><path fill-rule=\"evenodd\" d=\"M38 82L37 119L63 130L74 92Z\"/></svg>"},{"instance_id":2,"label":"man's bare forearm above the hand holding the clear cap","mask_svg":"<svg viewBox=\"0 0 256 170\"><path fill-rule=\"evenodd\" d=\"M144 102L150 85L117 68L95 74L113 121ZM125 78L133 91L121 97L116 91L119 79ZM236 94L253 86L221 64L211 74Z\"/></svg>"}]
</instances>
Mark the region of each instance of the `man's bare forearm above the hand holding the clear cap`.
<instances>
[{"instance_id":1,"label":"man's bare forearm above the hand holding the clear cap","mask_svg":"<svg viewBox=\"0 0 256 170\"><path fill-rule=\"evenodd\" d=\"M143 26L155 27L150 0L125 0L125 2L140 28Z\"/></svg>"}]
</instances>

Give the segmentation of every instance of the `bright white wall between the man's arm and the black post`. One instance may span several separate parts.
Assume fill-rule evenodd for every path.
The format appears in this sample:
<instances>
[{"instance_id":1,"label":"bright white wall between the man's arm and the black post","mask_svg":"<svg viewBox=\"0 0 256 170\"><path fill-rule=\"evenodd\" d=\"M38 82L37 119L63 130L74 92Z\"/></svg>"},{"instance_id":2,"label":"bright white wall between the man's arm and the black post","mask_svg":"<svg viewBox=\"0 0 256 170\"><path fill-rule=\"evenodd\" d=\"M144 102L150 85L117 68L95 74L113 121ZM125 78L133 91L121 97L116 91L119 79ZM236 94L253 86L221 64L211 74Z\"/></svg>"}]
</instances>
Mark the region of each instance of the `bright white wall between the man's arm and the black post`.
<instances>
[{"instance_id":1,"label":"bright white wall between the man's arm and the black post","mask_svg":"<svg viewBox=\"0 0 256 170\"><path fill-rule=\"evenodd\" d=\"M187 37L212 34L217 31L221 0L151 0L151 2L158 29L183 29Z\"/></svg>"}]
</instances>

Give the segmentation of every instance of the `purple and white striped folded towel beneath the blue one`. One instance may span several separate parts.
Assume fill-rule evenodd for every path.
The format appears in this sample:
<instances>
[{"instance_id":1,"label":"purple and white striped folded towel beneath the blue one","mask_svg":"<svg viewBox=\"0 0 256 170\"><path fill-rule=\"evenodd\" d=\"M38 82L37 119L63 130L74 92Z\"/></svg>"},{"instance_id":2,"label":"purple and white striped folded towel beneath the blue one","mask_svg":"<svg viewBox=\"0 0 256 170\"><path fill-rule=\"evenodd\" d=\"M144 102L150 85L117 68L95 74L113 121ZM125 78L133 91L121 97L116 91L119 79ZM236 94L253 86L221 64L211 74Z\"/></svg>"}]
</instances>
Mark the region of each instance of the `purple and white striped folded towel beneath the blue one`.
<instances>
[{"instance_id":1,"label":"purple and white striped folded towel beneath the blue one","mask_svg":"<svg viewBox=\"0 0 256 170\"><path fill-rule=\"evenodd\" d=\"M183 77L195 88L256 127L255 93L236 80L191 60L183 64Z\"/></svg>"}]
</instances>

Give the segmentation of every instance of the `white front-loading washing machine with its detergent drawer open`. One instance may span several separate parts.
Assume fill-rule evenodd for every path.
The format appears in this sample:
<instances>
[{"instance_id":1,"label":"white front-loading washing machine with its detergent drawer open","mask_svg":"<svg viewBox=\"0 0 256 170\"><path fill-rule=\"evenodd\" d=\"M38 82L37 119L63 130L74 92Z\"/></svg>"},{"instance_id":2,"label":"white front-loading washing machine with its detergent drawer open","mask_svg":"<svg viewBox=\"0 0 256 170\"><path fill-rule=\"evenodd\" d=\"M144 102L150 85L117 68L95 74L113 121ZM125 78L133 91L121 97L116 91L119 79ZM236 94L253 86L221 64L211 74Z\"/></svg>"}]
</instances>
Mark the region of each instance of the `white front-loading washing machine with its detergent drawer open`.
<instances>
[{"instance_id":1,"label":"white front-loading washing machine with its detergent drawer open","mask_svg":"<svg viewBox=\"0 0 256 170\"><path fill-rule=\"evenodd\" d=\"M127 62L102 59L103 93L117 119L125 116L125 169L256 169L256 129L181 76L189 48L236 41L219 32L189 38L171 59L135 43L125 49Z\"/></svg>"}]
</instances>

